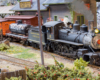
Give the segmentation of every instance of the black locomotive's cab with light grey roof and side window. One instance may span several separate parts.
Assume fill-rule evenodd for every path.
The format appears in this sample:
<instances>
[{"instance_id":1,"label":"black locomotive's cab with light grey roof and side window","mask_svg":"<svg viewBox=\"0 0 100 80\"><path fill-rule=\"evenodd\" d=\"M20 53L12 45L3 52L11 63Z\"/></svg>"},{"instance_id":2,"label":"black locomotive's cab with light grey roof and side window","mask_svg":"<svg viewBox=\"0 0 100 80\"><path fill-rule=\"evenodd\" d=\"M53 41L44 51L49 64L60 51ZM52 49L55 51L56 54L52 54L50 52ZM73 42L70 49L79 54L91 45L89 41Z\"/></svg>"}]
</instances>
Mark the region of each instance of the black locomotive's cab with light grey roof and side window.
<instances>
[{"instance_id":1,"label":"black locomotive's cab with light grey roof and side window","mask_svg":"<svg viewBox=\"0 0 100 80\"><path fill-rule=\"evenodd\" d=\"M64 23L59 21L50 21L42 26L42 31L47 33L47 39L58 39L59 30L63 29ZM45 30L44 30L45 29Z\"/></svg>"}]
</instances>

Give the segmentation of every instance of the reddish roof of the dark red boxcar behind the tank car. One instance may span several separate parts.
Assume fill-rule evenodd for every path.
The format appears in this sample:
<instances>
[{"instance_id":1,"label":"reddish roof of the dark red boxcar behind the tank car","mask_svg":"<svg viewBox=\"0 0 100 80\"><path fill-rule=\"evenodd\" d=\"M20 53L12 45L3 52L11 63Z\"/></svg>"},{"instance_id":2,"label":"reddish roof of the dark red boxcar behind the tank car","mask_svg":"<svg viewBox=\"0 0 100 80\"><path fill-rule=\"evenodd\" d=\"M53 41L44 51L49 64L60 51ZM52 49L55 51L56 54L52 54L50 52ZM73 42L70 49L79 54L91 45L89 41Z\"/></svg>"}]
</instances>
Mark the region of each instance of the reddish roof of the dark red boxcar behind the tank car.
<instances>
[{"instance_id":1,"label":"reddish roof of the dark red boxcar behind the tank car","mask_svg":"<svg viewBox=\"0 0 100 80\"><path fill-rule=\"evenodd\" d=\"M13 16L8 16L5 19L31 19L35 17L36 16L32 16L32 15L13 15Z\"/></svg>"}]
</instances>

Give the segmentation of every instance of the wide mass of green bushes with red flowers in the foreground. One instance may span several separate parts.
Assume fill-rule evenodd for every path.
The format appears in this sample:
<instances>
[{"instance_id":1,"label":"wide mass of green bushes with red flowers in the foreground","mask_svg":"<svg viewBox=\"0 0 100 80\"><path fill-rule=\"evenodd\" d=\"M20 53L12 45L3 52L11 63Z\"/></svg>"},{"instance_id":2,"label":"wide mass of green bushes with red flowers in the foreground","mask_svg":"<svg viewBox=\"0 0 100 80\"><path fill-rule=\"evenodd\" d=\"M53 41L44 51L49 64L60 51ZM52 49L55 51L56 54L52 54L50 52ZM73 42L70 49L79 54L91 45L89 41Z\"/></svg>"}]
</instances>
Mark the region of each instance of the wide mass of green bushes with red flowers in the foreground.
<instances>
[{"instance_id":1,"label":"wide mass of green bushes with red flowers in the foreground","mask_svg":"<svg viewBox=\"0 0 100 80\"><path fill-rule=\"evenodd\" d=\"M55 58L55 65L47 67L39 66L39 63L34 66L34 69L25 67L29 80L100 80L100 75L93 77L91 72L85 70L86 63L82 58L76 60L73 69L64 68L63 63L59 63ZM77 62L81 63L78 64ZM84 67L84 68L83 68Z\"/></svg>"}]
</instances>

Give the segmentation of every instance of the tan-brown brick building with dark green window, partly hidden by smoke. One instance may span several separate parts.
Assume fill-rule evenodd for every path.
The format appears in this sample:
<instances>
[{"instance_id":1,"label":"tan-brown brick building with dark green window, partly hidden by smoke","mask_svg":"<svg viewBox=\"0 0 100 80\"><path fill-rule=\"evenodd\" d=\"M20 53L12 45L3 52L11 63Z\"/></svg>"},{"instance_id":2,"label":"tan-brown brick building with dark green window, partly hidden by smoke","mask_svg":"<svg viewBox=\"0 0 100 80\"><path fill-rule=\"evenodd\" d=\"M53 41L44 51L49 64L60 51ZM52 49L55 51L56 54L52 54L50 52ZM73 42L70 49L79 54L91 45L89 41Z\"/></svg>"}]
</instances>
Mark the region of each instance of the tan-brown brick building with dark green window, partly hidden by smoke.
<instances>
[{"instance_id":1,"label":"tan-brown brick building with dark green window, partly hidden by smoke","mask_svg":"<svg viewBox=\"0 0 100 80\"><path fill-rule=\"evenodd\" d=\"M94 27L97 26L97 15L96 15L96 0L83 0L85 2L85 4L90 8L90 10L92 11L93 15L94 15ZM73 18L73 22L75 22L76 20L80 21L80 24L85 23L86 25L88 25L88 20L85 19L85 17L82 14L79 14L77 12L73 13L74 18ZM80 19L79 19L80 18Z\"/></svg>"}]
</instances>

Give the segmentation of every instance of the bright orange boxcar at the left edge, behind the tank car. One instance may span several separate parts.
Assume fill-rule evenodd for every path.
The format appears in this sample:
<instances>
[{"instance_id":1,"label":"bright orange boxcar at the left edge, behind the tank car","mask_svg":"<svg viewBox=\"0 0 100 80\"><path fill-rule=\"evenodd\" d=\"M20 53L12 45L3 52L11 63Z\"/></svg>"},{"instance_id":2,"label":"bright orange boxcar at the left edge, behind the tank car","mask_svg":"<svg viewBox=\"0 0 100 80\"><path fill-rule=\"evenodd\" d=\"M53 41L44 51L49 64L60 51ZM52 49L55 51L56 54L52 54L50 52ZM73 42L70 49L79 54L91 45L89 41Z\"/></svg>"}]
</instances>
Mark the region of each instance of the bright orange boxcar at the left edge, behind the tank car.
<instances>
[{"instance_id":1,"label":"bright orange boxcar at the left edge, behind the tank car","mask_svg":"<svg viewBox=\"0 0 100 80\"><path fill-rule=\"evenodd\" d=\"M11 23L15 23L15 22L16 21L14 21L14 20L9 21L9 20L5 20L5 19L0 19L0 29L2 29L3 36L5 36L6 33L10 32L9 25Z\"/></svg>"}]
</instances>

